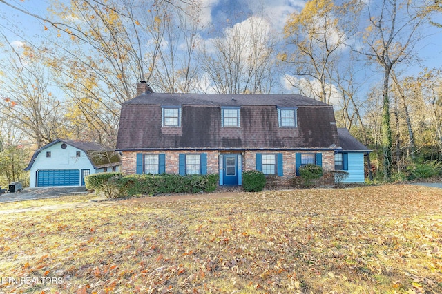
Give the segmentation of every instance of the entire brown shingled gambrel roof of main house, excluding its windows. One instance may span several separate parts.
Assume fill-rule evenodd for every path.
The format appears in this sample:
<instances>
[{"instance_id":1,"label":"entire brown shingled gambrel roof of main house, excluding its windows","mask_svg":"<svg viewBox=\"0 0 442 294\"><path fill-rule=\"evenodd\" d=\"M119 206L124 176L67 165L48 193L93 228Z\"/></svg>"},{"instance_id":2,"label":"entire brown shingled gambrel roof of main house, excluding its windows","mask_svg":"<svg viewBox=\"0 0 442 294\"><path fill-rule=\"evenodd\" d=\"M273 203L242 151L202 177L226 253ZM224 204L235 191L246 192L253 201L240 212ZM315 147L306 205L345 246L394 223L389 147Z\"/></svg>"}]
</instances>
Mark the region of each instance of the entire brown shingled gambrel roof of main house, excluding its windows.
<instances>
[{"instance_id":1,"label":"entire brown shingled gambrel roof of main house, excluding its windows","mask_svg":"<svg viewBox=\"0 0 442 294\"><path fill-rule=\"evenodd\" d=\"M233 98L233 99L232 99ZM162 127L161 107L182 108ZM240 127L222 127L221 107L240 107ZM277 107L297 108L297 127L278 127ZM340 149L332 105L293 94L141 94L122 105L117 150Z\"/></svg>"}]
</instances>

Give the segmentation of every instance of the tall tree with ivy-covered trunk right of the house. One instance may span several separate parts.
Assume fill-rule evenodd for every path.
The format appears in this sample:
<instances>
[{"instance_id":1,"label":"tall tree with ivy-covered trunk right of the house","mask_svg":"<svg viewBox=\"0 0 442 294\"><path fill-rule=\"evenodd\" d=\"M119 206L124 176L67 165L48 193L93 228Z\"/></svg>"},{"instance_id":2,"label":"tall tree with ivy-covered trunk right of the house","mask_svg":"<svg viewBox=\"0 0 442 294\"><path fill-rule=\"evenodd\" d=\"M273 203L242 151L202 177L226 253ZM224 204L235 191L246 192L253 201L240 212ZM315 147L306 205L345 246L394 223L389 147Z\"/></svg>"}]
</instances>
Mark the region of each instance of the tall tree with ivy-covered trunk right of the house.
<instances>
[{"instance_id":1,"label":"tall tree with ivy-covered trunk right of the house","mask_svg":"<svg viewBox=\"0 0 442 294\"><path fill-rule=\"evenodd\" d=\"M383 70L382 146L385 180L392 171L392 129L390 126L390 76L398 63L409 61L423 35L419 28L430 13L430 1L383 0L366 5L369 25L364 34L365 54ZM373 5L373 6L370 6Z\"/></svg>"}]
</instances>

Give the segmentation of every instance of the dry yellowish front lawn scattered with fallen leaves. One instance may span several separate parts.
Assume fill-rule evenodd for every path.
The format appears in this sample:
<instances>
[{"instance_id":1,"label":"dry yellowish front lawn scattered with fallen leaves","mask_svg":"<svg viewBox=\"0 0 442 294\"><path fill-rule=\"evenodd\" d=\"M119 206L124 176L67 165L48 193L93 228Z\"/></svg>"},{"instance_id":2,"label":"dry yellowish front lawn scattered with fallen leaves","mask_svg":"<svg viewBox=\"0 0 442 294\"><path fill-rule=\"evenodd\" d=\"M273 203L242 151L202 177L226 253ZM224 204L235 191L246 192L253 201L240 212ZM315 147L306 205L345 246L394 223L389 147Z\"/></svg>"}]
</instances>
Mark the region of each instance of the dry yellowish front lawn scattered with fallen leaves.
<instances>
[{"instance_id":1,"label":"dry yellowish front lawn scattered with fallen leaves","mask_svg":"<svg viewBox=\"0 0 442 294\"><path fill-rule=\"evenodd\" d=\"M441 194L384 185L3 214L0 292L442 293Z\"/></svg>"}]
</instances>

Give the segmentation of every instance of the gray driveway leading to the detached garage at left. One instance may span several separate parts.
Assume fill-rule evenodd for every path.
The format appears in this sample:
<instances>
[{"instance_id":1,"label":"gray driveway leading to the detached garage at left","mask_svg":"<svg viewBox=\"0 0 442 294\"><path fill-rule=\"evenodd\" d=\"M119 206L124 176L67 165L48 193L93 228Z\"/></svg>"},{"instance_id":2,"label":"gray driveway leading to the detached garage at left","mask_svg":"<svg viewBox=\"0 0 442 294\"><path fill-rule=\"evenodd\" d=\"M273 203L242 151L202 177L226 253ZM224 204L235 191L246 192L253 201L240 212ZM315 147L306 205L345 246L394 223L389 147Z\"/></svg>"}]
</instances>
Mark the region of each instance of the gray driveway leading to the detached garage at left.
<instances>
[{"instance_id":1,"label":"gray driveway leading to the detached garage at left","mask_svg":"<svg viewBox=\"0 0 442 294\"><path fill-rule=\"evenodd\" d=\"M17 193L0 194L1 202L17 202L23 200L34 200L43 198L57 198L59 196L73 193L84 193L86 187L56 187L56 188L25 188Z\"/></svg>"}]
</instances>

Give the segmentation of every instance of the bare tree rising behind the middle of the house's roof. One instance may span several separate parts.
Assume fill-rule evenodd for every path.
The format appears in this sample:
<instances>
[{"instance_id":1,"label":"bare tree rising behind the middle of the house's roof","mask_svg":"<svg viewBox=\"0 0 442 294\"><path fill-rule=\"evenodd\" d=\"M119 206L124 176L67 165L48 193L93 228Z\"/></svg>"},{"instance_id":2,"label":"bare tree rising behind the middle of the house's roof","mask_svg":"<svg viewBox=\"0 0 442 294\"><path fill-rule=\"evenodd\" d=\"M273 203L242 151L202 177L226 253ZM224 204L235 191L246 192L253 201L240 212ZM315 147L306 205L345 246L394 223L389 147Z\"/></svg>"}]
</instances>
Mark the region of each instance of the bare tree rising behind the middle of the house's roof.
<instances>
[{"instance_id":1,"label":"bare tree rising behind the middle of the house's roof","mask_svg":"<svg viewBox=\"0 0 442 294\"><path fill-rule=\"evenodd\" d=\"M269 93L273 86L275 40L269 23L249 17L202 46L202 69L215 92Z\"/></svg>"}]
</instances>

